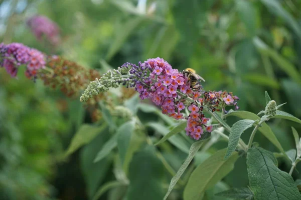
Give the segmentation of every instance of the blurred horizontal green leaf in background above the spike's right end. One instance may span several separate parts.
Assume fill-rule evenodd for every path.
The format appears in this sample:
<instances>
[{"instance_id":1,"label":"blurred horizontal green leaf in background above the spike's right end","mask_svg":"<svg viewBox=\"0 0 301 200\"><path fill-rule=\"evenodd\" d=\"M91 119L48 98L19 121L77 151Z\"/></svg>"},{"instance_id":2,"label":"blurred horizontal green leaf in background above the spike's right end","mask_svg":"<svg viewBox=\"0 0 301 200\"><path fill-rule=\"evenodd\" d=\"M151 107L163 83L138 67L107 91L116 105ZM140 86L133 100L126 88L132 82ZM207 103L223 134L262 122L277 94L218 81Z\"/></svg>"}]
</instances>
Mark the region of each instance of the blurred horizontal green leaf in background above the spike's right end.
<instances>
[{"instance_id":1,"label":"blurred horizontal green leaf in background above the spike's right end","mask_svg":"<svg viewBox=\"0 0 301 200\"><path fill-rule=\"evenodd\" d=\"M280 88L280 84L276 80L274 80L270 77L266 77L266 75L263 75L263 74L247 73L247 74L243 75L242 78L243 78L243 80L247 80L250 83L268 86L268 87L275 88L275 89Z\"/></svg>"}]
</instances>

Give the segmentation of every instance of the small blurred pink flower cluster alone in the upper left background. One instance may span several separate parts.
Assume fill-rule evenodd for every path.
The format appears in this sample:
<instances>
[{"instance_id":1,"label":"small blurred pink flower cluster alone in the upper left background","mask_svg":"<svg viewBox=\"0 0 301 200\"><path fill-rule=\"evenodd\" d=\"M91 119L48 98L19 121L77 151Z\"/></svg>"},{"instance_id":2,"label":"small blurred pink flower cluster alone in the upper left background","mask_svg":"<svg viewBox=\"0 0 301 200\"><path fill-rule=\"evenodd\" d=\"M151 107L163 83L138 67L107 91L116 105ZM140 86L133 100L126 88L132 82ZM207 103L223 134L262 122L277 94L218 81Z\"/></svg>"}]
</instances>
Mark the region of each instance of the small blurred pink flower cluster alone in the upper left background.
<instances>
[{"instance_id":1,"label":"small blurred pink flower cluster alone in the upper left background","mask_svg":"<svg viewBox=\"0 0 301 200\"><path fill-rule=\"evenodd\" d=\"M46 16L33 16L27 21L28 26L35 34L38 40L42 40L42 36L46 35L49 42L56 46L60 43L60 29L58 25Z\"/></svg>"}]
</instances>

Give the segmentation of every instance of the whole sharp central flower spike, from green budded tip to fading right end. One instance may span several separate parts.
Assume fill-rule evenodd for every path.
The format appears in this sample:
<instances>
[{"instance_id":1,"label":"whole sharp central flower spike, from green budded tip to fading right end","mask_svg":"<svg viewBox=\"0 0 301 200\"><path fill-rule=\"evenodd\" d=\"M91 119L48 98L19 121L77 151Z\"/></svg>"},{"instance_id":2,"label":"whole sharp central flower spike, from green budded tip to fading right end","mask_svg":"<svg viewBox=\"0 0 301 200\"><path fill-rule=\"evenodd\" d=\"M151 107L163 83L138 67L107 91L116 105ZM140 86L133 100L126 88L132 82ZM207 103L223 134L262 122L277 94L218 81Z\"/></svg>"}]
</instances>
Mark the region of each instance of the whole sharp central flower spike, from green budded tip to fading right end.
<instances>
[{"instance_id":1,"label":"whole sharp central flower spike, from green budded tip to fading right end","mask_svg":"<svg viewBox=\"0 0 301 200\"><path fill-rule=\"evenodd\" d=\"M228 105L237 106L238 97L226 91L204 91L202 86L192 88L182 72L174 69L167 61L157 57L147 59L138 65L125 63L117 69L92 81L81 96L81 101L107 91L119 84L134 87L141 99L149 98L161 106L162 112L175 119L187 119L186 133L198 140L204 132L211 132L207 125L204 108L224 111ZM188 112L188 114L187 114Z\"/></svg>"}]
</instances>

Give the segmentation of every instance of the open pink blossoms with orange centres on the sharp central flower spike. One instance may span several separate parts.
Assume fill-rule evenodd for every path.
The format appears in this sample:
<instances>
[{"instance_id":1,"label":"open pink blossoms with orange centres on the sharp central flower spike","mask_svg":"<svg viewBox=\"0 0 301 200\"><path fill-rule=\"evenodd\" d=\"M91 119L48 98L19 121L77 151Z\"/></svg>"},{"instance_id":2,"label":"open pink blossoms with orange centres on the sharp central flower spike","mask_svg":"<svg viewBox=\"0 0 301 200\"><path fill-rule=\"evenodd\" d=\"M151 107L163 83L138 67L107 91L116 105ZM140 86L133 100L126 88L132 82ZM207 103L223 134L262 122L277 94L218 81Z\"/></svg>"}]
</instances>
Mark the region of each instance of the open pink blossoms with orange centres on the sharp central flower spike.
<instances>
[{"instance_id":1,"label":"open pink blossoms with orange centres on the sharp central flower spike","mask_svg":"<svg viewBox=\"0 0 301 200\"><path fill-rule=\"evenodd\" d=\"M208 118L203 114L203 107L198 107L194 103L188 103L185 97L190 97L194 101L202 103L204 91L193 90L188 79L173 69L172 66L162 58L152 58L141 64L142 67L150 68L148 78L152 80L145 83L137 81L135 88L140 93L140 98L150 98L157 105L161 105L162 112L175 119L188 119L186 128L187 135L199 139L205 131L211 132L212 126L207 126ZM213 98L212 98L213 99ZM205 102L205 101L204 101ZM210 102L211 103L211 102ZM188 106L189 116L184 117L183 111ZM209 105L214 108L214 105Z\"/></svg>"}]
</instances>

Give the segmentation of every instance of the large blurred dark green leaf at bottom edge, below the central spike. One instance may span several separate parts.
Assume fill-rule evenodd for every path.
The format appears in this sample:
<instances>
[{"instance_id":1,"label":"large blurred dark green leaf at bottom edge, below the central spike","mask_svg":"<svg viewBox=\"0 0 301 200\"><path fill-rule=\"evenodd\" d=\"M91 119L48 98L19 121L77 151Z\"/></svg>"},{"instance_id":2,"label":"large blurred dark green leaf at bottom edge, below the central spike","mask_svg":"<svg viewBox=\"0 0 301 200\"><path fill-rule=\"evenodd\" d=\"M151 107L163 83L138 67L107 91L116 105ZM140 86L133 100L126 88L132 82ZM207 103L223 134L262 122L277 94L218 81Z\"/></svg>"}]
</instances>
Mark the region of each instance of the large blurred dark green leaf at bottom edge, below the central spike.
<instances>
[{"instance_id":1,"label":"large blurred dark green leaf at bottom edge, below the central spike","mask_svg":"<svg viewBox=\"0 0 301 200\"><path fill-rule=\"evenodd\" d=\"M109 138L109 134L107 134L107 132L108 128L104 129L80 151L81 169L83 171L83 177L85 178L87 186L86 190L89 198L94 196L112 162L111 157L107 156L101 162L93 163L97 152Z\"/></svg>"}]
</instances>

